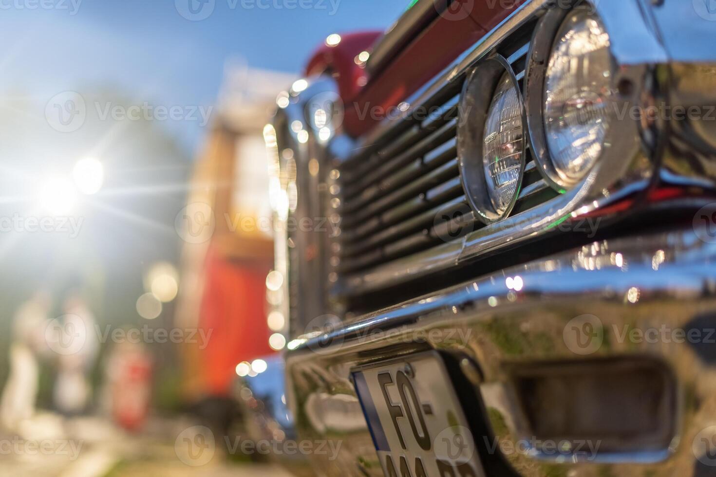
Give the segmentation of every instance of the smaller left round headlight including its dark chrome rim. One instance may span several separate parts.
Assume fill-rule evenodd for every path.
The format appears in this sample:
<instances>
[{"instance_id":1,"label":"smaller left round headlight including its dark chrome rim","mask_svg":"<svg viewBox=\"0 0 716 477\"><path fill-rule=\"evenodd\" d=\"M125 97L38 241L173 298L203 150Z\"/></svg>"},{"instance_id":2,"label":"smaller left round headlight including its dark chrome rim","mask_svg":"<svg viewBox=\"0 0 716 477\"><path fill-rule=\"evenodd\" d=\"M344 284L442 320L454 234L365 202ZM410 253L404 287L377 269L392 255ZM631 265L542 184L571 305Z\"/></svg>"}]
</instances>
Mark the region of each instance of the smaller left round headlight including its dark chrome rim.
<instances>
[{"instance_id":1,"label":"smaller left round headlight including its dark chrome rim","mask_svg":"<svg viewBox=\"0 0 716 477\"><path fill-rule=\"evenodd\" d=\"M470 73L460 98L458 158L463 189L485 223L509 215L525 168L522 96L511 64L495 55Z\"/></svg>"}]
</instances>

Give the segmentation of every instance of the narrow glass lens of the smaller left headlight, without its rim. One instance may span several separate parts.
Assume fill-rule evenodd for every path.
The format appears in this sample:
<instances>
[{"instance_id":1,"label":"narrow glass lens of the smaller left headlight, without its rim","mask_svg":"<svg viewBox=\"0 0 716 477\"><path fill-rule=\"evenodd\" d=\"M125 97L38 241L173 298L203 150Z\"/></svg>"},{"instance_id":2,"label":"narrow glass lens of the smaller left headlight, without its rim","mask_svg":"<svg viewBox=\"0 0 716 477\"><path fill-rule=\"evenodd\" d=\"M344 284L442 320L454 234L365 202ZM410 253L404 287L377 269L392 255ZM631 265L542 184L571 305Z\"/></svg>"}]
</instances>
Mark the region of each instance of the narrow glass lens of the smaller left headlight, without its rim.
<instances>
[{"instance_id":1,"label":"narrow glass lens of the smaller left headlight, without its rim","mask_svg":"<svg viewBox=\"0 0 716 477\"><path fill-rule=\"evenodd\" d=\"M483 167L490 201L502 215L518 187L522 165L522 109L517 89L505 72L495 89L483 136Z\"/></svg>"}]
</instances>

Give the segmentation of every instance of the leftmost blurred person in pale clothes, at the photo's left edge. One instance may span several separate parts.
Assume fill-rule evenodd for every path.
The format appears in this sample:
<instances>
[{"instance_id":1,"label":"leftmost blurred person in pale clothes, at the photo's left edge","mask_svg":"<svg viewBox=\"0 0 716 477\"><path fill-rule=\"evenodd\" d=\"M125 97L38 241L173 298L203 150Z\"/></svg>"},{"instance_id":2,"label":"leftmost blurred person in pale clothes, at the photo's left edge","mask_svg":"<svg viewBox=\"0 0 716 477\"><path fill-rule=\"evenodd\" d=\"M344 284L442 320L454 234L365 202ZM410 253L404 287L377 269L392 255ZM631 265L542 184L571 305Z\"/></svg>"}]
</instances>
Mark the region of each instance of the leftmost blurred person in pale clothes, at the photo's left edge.
<instances>
[{"instance_id":1,"label":"leftmost blurred person in pale clothes, at the photo's left edge","mask_svg":"<svg viewBox=\"0 0 716 477\"><path fill-rule=\"evenodd\" d=\"M13 318L10 370L0 400L0 421L9 431L32 418L39 388L38 355L51 305L49 294L40 290L19 306Z\"/></svg>"}]
</instances>

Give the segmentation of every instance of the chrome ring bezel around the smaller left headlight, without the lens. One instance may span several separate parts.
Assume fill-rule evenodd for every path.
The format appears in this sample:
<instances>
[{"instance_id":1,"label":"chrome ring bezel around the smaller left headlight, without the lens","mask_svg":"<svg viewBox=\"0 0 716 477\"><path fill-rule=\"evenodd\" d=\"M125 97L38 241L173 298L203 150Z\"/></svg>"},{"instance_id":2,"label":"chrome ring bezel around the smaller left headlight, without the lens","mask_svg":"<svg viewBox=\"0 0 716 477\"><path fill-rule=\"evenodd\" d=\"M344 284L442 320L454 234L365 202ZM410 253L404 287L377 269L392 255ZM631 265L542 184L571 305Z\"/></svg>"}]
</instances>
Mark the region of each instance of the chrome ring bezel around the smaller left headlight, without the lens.
<instances>
[{"instance_id":1,"label":"chrome ring bezel around the smaller left headlight, without the lens","mask_svg":"<svg viewBox=\"0 0 716 477\"><path fill-rule=\"evenodd\" d=\"M505 210L495 210L483 166L483 139L485 122L500 79L507 73L515 88L521 109L523 134L521 139L521 163L518 185ZM479 62L468 74L460 97L460 119L458 123L458 162L460 181L470 206L485 224L497 222L512 212L520 193L520 183L525 172L527 123L522 91L511 64L499 54Z\"/></svg>"}]
</instances>

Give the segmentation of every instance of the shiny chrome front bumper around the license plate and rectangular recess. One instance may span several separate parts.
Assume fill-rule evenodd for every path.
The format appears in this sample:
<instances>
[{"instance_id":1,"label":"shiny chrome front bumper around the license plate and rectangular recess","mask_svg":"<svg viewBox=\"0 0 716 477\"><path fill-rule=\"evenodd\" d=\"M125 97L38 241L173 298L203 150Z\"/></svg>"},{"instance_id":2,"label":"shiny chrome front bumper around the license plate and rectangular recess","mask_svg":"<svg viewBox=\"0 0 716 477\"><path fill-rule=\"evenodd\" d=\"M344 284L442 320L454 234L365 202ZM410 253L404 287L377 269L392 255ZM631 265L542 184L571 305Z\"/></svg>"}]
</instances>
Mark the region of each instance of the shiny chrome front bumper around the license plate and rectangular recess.
<instances>
[{"instance_id":1,"label":"shiny chrome front bumper around the license plate and rectangular recess","mask_svg":"<svg viewBox=\"0 0 716 477\"><path fill-rule=\"evenodd\" d=\"M706 335L700 343L614 336L624 325L689 330L697 318L702 328L706 323L716 329L716 238L707 232L684 228L594 242L295 341L286 355L286 398L296 434L342 442L334 460L308 456L314 470L382 474L349 370L432 348L475 364L465 368L465 378L490 409L498 449L522 449L503 456L519 475L711 475L716 459L707 443L716 432L710 427L716 423L716 345L708 345ZM583 315L594 316L609 338L575 348L565 330ZM506 369L629 356L662 361L677 379L677 432L667 448L589 461L561 455L555 461L518 445L524 422Z\"/></svg>"}]
</instances>

